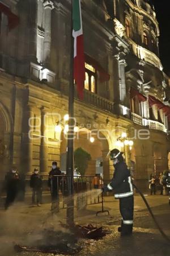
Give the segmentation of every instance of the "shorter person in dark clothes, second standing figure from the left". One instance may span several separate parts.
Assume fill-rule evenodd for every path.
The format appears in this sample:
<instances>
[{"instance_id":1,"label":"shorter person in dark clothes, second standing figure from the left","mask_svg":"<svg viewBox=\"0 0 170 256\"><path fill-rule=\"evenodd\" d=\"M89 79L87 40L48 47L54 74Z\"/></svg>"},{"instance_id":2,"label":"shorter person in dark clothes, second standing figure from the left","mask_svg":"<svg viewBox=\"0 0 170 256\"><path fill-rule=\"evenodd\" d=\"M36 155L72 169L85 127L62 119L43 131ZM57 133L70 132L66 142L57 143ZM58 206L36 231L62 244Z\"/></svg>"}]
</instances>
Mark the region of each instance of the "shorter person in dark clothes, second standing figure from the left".
<instances>
[{"instance_id":1,"label":"shorter person in dark clothes, second standing figure from the left","mask_svg":"<svg viewBox=\"0 0 170 256\"><path fill-rule=\"evenodd\" d=\"M34 173L31 175L30 187L32 188L32 205L35 205L35 197L37 199L37 206L41 206L42 195L42 178L39 175L39 170L34 169Z\"/></svg>"}]
</instances>

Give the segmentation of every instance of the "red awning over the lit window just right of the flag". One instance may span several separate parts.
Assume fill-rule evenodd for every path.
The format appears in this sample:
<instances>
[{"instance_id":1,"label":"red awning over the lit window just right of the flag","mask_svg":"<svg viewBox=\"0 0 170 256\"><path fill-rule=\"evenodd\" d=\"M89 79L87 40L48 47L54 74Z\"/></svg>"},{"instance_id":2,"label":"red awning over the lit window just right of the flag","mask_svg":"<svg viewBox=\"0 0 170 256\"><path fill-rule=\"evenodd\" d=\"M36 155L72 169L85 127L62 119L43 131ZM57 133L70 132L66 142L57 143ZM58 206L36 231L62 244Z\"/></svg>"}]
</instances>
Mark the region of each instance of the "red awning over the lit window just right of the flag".
<instances>
[{"instance_id":1,"label":"red awning over the lit window just right of the flag","mask_svg":"<svg viewBox=\"0 0 170 256\"><path fill-rule=\"evenodd\" d=\"M105 71L103 67L101 67L100 63L93 59L91 56L84 53L85 61L92 65L97 71L99 71L100 81L107 82L111 79L111 76Z\"/></svg>"}]
</instances>

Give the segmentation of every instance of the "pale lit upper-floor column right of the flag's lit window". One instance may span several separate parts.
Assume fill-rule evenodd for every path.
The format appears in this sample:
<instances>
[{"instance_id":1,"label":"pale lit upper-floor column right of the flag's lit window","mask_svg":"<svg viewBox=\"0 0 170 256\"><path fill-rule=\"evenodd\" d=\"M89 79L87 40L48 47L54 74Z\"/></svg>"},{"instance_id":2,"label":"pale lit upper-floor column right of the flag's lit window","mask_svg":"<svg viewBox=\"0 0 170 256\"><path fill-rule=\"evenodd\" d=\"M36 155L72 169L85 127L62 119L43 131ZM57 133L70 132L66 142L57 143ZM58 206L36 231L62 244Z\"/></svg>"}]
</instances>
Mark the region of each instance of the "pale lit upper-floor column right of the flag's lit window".
<instances>
[{"instance_id":1,"label":"pale lit upper-floor column right of the flag's lit window","mask_svg":"<svg viewBox=\"0 0 170 256\"><path fill-rule=\"evenodd\" d=\"M126 61L125 59L119 59L119 75L121 79L121 84L120 84L120 100L122 105L125 104L125 99L126 99L126 82L125 82L125 67L126 67Z\"/></svg>"}]
</instances>

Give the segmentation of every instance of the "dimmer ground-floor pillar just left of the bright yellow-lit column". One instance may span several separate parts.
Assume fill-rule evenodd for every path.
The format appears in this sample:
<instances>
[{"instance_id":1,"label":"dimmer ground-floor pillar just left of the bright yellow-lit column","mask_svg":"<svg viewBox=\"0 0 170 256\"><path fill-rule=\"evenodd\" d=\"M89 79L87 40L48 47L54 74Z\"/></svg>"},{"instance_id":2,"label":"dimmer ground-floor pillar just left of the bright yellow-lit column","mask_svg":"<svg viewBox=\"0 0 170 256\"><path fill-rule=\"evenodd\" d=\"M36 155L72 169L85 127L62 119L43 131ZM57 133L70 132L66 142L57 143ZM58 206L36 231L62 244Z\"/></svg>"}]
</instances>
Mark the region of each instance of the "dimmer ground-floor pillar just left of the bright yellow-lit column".
<instances>
[{"instance_id":1,"label":"dimmer ground-floor pillar just left of the bright yellow-lit column","mask_svg":"<svg viewBox=\"0 0 170 256\"><path fill-rule=\"evenodd\" d=\"M25 111L22 147L22 167L25 174L32 173L32 148L33 148L33 105L28 105Z\"/></svg>"}]
</instances>

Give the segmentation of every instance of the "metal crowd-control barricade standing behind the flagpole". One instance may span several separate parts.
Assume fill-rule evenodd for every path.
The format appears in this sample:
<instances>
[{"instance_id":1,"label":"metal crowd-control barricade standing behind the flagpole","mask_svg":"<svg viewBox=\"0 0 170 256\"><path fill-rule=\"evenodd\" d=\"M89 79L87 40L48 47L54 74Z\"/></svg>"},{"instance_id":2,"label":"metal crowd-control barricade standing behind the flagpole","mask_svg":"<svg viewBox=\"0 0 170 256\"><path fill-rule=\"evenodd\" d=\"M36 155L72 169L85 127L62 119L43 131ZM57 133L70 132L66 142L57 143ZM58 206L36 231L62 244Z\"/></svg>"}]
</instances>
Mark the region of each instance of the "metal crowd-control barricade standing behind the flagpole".
<instances>
[{"instance_id":1,"label":"metal crowd-control barricade standing behind the flagpole","mask_svg":"<svg viewBox=\"0 0 170 256\"><path fill-rule=\"evenodd\" d=\"M41 175L41 174L40 174ZM66 209L70 197L69 191L69 179L73 181L73 197L74 208L83 209L87 205L101 204L101 210L96 213L108 212L104 210L103 193L97 192L97 189L103 187L103 179L100 176L66 176L66 175L53 175L49 179L49 175L42 175L42 181L44 188L42 189L42 201L43 197L49 194L47 185L49 185L50 193L56 193L56 200L59 201L59 209ZM27 184L30 179L30 175L26 176ZM30 191L30 190L29 190ZM109 212L108 212L109 214Z\"/></svg>"}]
</instances>

